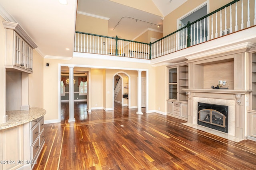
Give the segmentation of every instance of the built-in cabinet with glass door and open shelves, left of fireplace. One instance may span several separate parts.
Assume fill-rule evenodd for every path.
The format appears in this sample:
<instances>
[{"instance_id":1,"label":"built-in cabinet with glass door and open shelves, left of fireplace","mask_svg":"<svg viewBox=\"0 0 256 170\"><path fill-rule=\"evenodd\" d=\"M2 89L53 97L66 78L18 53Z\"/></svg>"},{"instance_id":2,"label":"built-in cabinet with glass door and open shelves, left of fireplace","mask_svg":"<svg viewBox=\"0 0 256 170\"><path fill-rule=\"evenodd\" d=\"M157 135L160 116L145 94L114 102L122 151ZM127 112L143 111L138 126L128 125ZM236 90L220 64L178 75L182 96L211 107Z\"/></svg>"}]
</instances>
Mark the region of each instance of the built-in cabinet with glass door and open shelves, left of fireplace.
<instances>
[{"instance_id":1,"label":"built-in cabinet with glass door and open shelves, left of fireplace","mask_svg":"<svg viewBox=\"0 0 256 170\"><path fill-rule=\"evenodd\" d=\"M182 89L188 88L188 64L168 66L167 113L186 120L188 117L188 97Z\"/></svg>"}]
</instances>

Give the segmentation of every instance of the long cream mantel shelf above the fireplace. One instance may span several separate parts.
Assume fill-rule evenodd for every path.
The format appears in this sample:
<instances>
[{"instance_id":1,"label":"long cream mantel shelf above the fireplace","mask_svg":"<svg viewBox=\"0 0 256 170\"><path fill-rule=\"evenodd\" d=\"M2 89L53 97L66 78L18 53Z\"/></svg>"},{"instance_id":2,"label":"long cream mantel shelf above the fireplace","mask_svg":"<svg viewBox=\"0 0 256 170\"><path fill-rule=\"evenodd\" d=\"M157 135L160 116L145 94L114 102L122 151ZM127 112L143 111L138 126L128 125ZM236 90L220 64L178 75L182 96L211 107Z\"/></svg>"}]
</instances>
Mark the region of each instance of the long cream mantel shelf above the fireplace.
<instances>
[{"instance_id":1,"label":"long cream mantel shelf above the fireplace","mask_svg":"<svg viewBox=\"0 0 256 170\"><path fill-rule=\"evenodd\" d=\"M185 92L198 92L198 93L222 93L222 94L248 94L252 90L234 90L234 89L182 89Z\"/></svg>"}]
</instances>

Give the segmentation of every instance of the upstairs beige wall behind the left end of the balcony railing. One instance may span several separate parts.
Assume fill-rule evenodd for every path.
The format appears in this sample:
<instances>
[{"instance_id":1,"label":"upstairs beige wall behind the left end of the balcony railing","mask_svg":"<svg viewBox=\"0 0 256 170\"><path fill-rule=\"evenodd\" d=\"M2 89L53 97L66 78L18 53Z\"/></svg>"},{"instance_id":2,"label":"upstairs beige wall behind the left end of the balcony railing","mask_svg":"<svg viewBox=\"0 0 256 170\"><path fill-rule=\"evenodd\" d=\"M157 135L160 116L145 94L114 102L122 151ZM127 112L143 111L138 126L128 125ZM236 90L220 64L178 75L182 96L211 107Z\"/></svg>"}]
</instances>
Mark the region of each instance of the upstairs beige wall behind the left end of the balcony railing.
<instances>
[{"instance_id":1,"label":"upstairs beige wall behind the left end of the balcony railing","mask_svg":"<svg viewBox=\"0 0 256 170\"><path fill-rule=\"evenodd\" d=\"M77 14L76 31L108 36L108 20Z\"/></svg>"}]
</instances>

